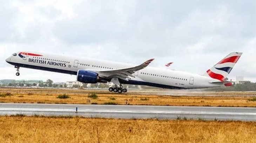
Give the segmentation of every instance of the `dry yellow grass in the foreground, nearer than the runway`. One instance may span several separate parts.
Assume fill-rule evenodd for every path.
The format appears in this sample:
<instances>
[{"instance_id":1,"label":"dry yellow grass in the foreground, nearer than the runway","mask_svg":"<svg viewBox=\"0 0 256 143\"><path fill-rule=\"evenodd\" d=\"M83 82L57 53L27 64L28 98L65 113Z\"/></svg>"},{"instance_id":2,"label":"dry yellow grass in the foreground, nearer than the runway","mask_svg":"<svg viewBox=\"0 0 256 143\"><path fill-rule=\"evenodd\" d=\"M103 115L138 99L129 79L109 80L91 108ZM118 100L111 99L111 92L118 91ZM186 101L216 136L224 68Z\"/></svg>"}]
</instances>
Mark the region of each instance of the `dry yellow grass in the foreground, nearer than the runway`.
<instances>
[{"instance_id":1,"label":"dry yellow grass in the foreground, nearer than the runway","mask_svg":"<svg viewBox=\"0 0 256 143\"><path fill-rule=\"evenodd\" d=\"M0 116L0 142L255 143L256 122Z\"/></svg>"}]
</instances>

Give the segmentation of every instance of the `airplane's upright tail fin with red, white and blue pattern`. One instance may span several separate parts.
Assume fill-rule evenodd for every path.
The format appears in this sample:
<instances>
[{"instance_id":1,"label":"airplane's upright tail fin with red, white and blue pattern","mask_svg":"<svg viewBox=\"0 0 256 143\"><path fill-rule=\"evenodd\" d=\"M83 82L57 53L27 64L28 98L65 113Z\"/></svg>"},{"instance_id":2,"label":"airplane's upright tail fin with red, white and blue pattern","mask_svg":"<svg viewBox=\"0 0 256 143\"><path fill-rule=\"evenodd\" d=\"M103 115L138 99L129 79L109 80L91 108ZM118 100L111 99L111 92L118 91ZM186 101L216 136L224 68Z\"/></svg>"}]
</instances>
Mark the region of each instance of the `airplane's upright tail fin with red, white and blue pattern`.
<instances>
[{"instance_id":1,"label":"airplane's upright tail fin with red, white and blue pattern","mask_svg":"<svg viewBox=\"0 0 256 143\"><path fill-rule=\"evenodd\" d=\"M204 76L208 76L220 81L224 81L224 79L228 76L230 71L235 66L238 59L241 57L242 53L232 52L227 57L222 59L212 68L208 69Z\"/></svg>"}]
</instances>

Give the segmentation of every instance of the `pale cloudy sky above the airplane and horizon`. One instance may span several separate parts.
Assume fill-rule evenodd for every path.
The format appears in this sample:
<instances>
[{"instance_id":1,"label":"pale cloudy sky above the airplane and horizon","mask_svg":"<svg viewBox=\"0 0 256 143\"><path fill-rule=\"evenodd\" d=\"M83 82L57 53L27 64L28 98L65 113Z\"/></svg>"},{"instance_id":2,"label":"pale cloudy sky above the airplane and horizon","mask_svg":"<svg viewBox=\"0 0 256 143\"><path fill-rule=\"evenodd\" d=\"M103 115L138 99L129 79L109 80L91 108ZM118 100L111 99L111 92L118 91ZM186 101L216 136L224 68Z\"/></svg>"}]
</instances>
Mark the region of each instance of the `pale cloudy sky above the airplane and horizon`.
<instances>
[{"instance_id":1,"label":"pale cloudy sky above the airplane and horizon","mask_svg":"<svg viewBox=\"0 0 256 143\"><path fill-rule=\"evenodd\" d=\"M0 0L0 80L75 81L5 62L17 51L57 53L204 74L243 52L229 78L256 81L255 0Z\"/></svg>"}]
</instances>

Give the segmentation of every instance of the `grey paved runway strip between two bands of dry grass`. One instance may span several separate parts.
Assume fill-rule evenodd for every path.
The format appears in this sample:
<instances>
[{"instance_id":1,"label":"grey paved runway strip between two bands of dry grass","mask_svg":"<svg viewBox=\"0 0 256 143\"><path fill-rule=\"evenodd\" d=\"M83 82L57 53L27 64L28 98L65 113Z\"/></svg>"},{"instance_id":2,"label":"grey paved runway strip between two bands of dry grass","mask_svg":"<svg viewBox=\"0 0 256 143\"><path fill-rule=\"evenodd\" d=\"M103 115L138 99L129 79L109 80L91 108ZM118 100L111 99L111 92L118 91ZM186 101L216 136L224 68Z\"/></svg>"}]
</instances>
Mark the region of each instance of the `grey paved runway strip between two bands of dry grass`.
<instances>
[{"instance_id":1,"label":"grey paved runway strip between two bands of dry grass","mask_svg":"<svg viewBox=\"0 0 256 143\"><path fill-rule=\"evenodd\" d=\"M75 113L78 107L78 113ZM120 119L202 119L256 121L253 107L142 106L0 103L0 115L84 116Z\"/></svg>"}]
</instances>

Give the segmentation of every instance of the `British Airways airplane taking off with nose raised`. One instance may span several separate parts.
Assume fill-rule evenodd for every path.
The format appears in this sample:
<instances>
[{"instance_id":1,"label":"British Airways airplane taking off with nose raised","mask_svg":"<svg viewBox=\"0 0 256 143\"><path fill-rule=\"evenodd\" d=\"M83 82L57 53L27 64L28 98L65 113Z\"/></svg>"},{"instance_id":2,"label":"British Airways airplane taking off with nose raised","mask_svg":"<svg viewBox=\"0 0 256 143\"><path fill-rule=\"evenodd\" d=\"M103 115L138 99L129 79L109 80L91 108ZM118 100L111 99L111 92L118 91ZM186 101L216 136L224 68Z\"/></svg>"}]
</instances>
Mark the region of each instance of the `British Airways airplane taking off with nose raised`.
<instances>
[{"instance_id":1,"label":"British Airways airplane taking off with nose raised","mask_svg":"<svg viewBox=\"0 0 256 143\"><path fill-rule=\"evenodd\" d=\"M110 92L127 92L122 84L147 85L164 89L198 89L219 86L231 86L233 81L226 81L242 53L232 52L224 59L208 69L205 74L198 75L183 71L168 70L148 65L154 60L149 59L141 65L106 61L90 58L68 57L47 53L17 52L6 59L17 70L20 67L53 71L76 75L82 83L114 83Z\"/></svg>"}]
</instances>

